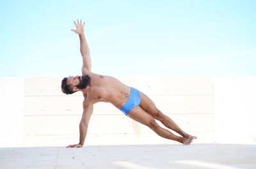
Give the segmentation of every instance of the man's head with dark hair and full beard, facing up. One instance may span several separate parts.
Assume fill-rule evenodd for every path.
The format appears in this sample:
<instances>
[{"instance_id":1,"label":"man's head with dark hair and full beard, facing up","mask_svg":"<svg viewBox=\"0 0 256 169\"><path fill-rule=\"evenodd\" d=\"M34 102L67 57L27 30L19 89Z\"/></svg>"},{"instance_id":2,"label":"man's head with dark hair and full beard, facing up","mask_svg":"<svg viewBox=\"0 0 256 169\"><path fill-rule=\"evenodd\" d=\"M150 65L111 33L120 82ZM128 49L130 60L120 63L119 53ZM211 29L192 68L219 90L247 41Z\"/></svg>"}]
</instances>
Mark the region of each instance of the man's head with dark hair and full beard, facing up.
<instances>
[{"instance_id":1,"label":"man's head with dark hair and full beard, facing up","mask_svg":"<svg viewBox=\"0 0 256 169\"><path fill-rule=\"evenodd\" d=\"M88 75L82 77L65 77L61 81L61 91L65 94L72 94L81 89L85 89L91 82L91 78Z\"/></svg>"}]
</instances>

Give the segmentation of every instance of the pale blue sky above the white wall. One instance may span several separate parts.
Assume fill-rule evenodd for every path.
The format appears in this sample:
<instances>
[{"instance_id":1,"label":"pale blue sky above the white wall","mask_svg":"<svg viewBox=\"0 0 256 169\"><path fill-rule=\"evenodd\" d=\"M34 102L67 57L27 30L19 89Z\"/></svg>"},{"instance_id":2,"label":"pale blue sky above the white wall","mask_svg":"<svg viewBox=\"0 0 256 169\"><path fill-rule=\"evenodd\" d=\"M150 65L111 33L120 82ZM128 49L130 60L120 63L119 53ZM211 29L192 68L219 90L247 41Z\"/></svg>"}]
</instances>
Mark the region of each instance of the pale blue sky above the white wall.
<instances>
[{"instance_id":1,"label":"pale blue sky above the white wall","mask_svg":"<svg viewBox=\"0 0 256 169\"><path fill-rule=\"evenodd\" d=\"M256 1L4 1L0 77L256 76Z\"/></svg>"}]
</instances>

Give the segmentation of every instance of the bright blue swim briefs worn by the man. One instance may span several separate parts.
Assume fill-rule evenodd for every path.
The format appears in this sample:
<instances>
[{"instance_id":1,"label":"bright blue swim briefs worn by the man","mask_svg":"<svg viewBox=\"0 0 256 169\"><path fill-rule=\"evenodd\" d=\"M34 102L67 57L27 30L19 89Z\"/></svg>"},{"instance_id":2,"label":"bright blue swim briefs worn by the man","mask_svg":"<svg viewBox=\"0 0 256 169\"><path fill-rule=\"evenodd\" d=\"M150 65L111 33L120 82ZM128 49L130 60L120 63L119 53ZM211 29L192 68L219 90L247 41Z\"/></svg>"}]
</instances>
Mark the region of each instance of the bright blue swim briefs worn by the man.
<instances>
[{"instance_id":1,"label":"bright blue swim briefs worn by the man","mask_svg":"<svg viewBox=\"0 0 256 169\"><path fill-rule=\"evenodd\" d=\"M132 108L140 105L140 91L131 87L131 93L129 99L126 101L123 107L119 108L125 115L129 114Z\"/></svg>"}]
</instances>

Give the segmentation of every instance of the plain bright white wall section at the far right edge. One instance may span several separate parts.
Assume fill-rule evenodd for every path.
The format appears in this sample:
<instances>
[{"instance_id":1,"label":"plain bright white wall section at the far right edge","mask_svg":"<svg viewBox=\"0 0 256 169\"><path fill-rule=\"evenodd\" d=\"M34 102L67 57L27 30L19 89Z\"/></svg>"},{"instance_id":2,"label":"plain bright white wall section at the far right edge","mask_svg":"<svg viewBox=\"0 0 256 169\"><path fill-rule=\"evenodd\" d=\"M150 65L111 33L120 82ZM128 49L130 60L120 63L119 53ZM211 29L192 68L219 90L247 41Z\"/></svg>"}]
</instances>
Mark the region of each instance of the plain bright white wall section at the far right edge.
<instances>
[{"instance_id":1,"label":"plain bright white wall section at the far right edge","mask_svg":"<svg viewBox=\"0 0 256 169\"><path fill-rule=\"evenodd\" d=\"M255 143L256 77L213 77L216 141Z\"/></svg>"}]
</instances>

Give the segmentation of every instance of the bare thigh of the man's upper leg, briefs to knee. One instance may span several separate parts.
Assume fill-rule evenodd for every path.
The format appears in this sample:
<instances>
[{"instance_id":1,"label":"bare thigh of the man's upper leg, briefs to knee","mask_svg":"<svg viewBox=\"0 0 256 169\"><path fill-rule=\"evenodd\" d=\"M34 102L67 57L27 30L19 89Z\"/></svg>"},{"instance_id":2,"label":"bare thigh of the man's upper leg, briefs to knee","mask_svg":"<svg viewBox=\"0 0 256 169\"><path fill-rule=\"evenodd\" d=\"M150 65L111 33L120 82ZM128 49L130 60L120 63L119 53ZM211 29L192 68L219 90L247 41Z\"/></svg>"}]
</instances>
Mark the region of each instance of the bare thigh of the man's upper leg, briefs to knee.
<instances>
[{"instance_id":1,"label":"bare thigh of the man's upper leg, briefs to knee","mask_svg":"<svg viewBox=\"0 0 256 169\"><path fill-rule=\"evenodd\" d=\"M155 103L143 92L140 92L140 107L153 117L155 117L159 112Z\"/></svg>"}]
</instances>

